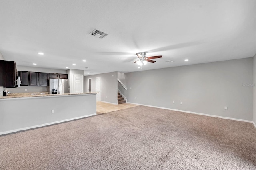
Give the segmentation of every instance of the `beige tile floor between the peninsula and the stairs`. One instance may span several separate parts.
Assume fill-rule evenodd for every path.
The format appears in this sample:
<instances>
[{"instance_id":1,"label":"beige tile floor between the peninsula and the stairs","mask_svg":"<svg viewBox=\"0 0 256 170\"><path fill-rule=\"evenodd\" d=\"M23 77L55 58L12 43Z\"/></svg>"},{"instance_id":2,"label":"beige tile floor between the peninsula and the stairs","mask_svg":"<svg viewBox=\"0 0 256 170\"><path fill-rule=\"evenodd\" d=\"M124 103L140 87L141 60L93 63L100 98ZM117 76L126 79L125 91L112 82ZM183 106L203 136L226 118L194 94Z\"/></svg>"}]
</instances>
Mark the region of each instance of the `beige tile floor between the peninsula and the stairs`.
<instances>
[{"instance_id":1,"label":"beige tile floor between the peninsula and the stairs","mask_svg":"<svg viewBox=\"0 0 256 170\"><path fill-rule=\"evenodd\" d=\"M111 104L111 103L97 101L96 112L97 112L97 114L102 114L102 113L108 113L108 112L117 111L117 110L121 110L121 109L126 109L129 107L134 107L134 106L138 106L138 105L134 105L134 104L130 104L130 103L123 103L123 104L115 105L115 104Z\"/></svg>"}]
</instances>

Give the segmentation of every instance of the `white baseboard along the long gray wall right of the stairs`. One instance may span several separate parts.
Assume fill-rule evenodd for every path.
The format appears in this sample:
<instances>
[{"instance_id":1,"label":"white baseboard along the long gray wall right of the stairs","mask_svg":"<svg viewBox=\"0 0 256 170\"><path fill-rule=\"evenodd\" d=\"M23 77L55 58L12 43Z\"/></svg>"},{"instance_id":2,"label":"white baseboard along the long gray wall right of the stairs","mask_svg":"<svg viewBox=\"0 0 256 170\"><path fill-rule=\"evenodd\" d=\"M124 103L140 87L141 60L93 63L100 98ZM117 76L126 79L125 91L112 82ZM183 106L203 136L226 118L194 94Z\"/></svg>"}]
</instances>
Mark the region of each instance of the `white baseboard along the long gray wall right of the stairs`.
<instances>
[{"instance_id":1,"label":"white baseboard along the long gray wall right of the stairs","mask_svg":"<svg viewBox=\"0 0 256 170\"><path fill-rule=\"evenodd\" d=\"M223 116L209 115L209 114L205 114L205 113L197 113L197 112L191 112L191 111L182 111L182 110L178 110L178 109L170 109L170 108L167 108L167 107L143 105L143 104L139 104L139 103L131 103L131 102L127 102L127 103L134 104L134 105L148 106L148 107L156 107L156 108L159 108L159 109L167 109L167 110L172 110L172 111L192 113L192 114L197 114L197 115L204 115L204 116L210 116L210 117L218 117L218 118L222 118L222 119L230 119L230 120L234 120L234 121L242 121L242 122L254 123L253 121L248 121L248 120L244 120L244 119L236 119L236 118L232 118L232 117L223 117ZM255 124L254 124L254 126L255 126Z\"/></svg>"}]
</instances>

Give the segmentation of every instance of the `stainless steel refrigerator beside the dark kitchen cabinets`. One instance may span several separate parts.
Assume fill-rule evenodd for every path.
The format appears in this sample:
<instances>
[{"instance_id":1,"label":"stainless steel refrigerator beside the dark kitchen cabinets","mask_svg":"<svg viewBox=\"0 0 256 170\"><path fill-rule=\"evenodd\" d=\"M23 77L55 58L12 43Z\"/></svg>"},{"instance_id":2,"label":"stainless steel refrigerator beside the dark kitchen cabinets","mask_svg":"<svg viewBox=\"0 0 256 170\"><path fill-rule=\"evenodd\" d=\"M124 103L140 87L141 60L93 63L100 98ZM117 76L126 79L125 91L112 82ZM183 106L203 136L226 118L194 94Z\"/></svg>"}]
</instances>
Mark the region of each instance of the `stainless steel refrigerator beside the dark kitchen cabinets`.
<instances>
[{"instance_id":1,"label":"stainless steel refrigerator beside the dark kitchen cabinets","mask_svg":"<svg viewBox=\"0 0 256 170\"><path fill-rule=\"evenodd\" d=\"M68 79L50 79L49 94L69 93Z\"/></svg>"}]
</instances>

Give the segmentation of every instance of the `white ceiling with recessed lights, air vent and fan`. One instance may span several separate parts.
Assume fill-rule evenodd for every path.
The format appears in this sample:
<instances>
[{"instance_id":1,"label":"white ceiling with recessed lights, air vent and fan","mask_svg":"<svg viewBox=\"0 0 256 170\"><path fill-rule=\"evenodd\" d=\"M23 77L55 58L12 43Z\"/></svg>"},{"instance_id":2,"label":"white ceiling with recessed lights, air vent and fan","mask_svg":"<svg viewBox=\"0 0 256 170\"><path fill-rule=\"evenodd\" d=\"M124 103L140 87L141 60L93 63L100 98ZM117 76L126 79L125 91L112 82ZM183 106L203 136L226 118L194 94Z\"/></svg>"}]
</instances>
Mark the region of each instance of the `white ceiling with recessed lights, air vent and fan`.
<instances>
[{"instance_id":1,"label":"white ceiling with recessed lights, air vent and fan","mask_svg":"<svg viewBox=\"0 0 256 170\"><path fill-rule=\"evenodd\" d=\"M163 56L142 70L256 53L256 1L1 0L0 6L0 51L22 66L98 74L140 71L134 60L121 59L141 51ZM89 35L95 28L109 35Z\"/></svg>"}]
</instances>

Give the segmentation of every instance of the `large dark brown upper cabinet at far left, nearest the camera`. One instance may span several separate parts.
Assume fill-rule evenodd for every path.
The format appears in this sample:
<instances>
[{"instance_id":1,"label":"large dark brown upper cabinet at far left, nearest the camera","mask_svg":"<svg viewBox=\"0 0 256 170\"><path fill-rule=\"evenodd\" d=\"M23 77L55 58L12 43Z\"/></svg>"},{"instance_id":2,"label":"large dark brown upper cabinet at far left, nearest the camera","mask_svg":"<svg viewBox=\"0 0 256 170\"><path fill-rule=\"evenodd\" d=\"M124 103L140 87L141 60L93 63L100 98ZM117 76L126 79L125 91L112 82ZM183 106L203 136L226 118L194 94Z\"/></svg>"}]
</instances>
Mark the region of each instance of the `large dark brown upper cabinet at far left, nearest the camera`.
<instances>
[{"instance_id":1,"label":"large dark brown upper cabinet at far left, nearest the camera","mask_svg":"<svg viewBox=\"0 0 256 170\"><path fill-rule=\"evenodd\" d=\"M0 60L0 86L17 87L17 69L14 61Z\"/></svg>"}]
</instances>

